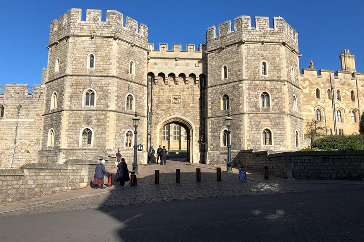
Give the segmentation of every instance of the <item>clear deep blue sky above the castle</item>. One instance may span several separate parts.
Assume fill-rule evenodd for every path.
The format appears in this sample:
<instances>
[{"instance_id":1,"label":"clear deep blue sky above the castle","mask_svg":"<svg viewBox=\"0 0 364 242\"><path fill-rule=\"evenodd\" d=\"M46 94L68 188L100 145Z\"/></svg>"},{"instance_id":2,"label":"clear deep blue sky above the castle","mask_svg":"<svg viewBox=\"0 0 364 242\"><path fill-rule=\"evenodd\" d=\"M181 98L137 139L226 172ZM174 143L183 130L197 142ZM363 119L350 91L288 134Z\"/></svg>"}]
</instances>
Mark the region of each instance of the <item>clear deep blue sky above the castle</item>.
<instances>
[{"instance_id":1,"label":"clear deep blue sky above the castle","mask_svg":"<svg viewBox=\"0 0 364 242\"><path fill-rule=\"evenodd\" d=\"M319 69L340 70L339 54L355 54L357 72L364 72L364 1L124 1L0 0L0 85L40 84L47 67L49 25L71 8L117 10L149 28L149 42L205 43L209 26L241 15L283 17L298 32L300 69L313 60Z\"/></svg>"}]
</instances>

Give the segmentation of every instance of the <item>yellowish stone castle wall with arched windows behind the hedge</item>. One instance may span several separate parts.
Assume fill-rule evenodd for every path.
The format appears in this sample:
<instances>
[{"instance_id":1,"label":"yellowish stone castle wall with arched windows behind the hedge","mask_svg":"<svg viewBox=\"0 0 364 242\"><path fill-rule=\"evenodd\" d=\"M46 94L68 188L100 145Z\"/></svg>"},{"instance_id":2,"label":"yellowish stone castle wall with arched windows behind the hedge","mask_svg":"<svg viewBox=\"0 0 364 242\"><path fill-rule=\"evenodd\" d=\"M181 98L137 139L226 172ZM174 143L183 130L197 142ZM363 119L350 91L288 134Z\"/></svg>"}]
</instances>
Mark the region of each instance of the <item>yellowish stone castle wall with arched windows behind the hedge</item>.
<instances>
[{"instance_id":1,"label":"yellowish stone castle wall with arched windows behind the hedge","mask_svg":"<svg viewBox=\"0 0 364 242\"><path fill-rule=\"evenodd\" d=\"M328 95L328 90L331 90L330 75L333 92ZM316 119L316 110L320 109L321 120L317 122L317 125L324 128L322 134L334 134L334 118L336 118L338 135L341 133L339 130L342 130L344 135L358 134L358 110L360 109L361 113L364 111L364 73L338 71L334 74L332 70L320 70L319 74L317 74L316 69L303 68L300 83L302 86L301 107L305 128L310 120ZM320 91L320 98L316 97L316 89ZM340 92L340 98L337 91ZM354 100L351 99L351 91L354 92ZM335 101L335 116L333 115L332 97ZM341 121L337 117L337 111L341 112ZM353 111L355 120L351 118ZM305 130L304 146L308 147L310 140L307 134Z\"/></svg>"}]
</instances>

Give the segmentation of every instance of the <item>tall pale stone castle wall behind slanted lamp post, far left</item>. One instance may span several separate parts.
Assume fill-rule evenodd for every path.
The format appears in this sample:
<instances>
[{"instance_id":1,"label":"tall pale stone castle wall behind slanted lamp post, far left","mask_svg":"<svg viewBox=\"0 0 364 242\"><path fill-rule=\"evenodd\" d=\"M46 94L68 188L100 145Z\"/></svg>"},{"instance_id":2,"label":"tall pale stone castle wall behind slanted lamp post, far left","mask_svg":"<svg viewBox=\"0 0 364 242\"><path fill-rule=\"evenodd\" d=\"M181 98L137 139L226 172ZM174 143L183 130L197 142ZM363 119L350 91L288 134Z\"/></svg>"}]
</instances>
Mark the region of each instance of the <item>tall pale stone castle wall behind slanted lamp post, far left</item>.
<instances>
[{"instance_id":1,"label":"tall pale stone castle wall behind slanted lamp post, far left","mask_svg":"<svg viewBox=\"0 0 364 242\"><path fill-rule=\"evenodd\" d=\"M5 107L4 117L0 117L0 168L10 167L18 105L22 107L13 168L37 162L42 132L44 85L34 85L32 90L33 93L28 92L28 85L5 85L5 92L0 95L0 106Z\"/></svg>"}]
</instances>

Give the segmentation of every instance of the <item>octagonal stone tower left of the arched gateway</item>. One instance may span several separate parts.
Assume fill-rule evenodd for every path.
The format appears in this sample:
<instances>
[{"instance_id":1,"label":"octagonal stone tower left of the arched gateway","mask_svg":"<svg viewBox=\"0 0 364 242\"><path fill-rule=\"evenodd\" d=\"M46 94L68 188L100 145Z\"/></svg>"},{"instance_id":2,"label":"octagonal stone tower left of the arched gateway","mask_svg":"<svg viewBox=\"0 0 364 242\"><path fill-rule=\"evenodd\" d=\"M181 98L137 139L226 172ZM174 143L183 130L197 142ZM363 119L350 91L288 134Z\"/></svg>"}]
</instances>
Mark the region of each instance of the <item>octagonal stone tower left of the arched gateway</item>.
<instances>
[{"instance_id":1,"label":"octagonal stone tower left of the arched gateway","mask_svg":"<svg viewBox=\"0 0 364 242\"><path fill-rule=\"evenodd\" d=\"M146 130L148 28L117 11L71 9L50 26L40 162L133 155L132 116ZM145 144L145 135L138 144ZM144 159L145 153L138 152Z\"/></svg>"}]
</instances>

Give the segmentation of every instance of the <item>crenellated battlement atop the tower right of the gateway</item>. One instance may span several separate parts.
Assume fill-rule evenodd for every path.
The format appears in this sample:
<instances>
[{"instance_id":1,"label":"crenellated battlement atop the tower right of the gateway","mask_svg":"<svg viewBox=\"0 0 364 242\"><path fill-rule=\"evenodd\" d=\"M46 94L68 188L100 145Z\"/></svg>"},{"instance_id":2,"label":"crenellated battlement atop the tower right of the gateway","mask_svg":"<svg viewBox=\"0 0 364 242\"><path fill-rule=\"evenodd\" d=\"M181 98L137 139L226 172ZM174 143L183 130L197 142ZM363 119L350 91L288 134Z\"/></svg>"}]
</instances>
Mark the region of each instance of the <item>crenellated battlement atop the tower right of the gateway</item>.
<instances>
[{"instance_id":1,"label":"crenellated battlement atop the tower right of the gateway","mask_svg":"<svg viewBox=\"0 0 364 242\"><path fill-rule=\"evenodd\" d=\"M234 19L234 29L231 21L225 21L211 26L206 32L207 50L237 42L283 43L298 52L298 33L282 17L273 18L273 28L269 27L268 17L255 17L255 27L251 26L250 16L240 16Z\"/></svg>"}]
</instances>

